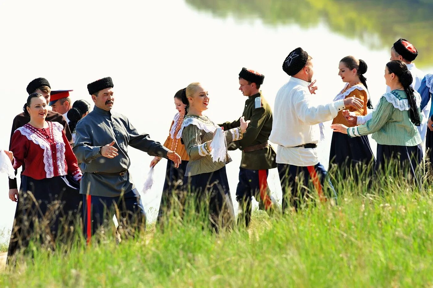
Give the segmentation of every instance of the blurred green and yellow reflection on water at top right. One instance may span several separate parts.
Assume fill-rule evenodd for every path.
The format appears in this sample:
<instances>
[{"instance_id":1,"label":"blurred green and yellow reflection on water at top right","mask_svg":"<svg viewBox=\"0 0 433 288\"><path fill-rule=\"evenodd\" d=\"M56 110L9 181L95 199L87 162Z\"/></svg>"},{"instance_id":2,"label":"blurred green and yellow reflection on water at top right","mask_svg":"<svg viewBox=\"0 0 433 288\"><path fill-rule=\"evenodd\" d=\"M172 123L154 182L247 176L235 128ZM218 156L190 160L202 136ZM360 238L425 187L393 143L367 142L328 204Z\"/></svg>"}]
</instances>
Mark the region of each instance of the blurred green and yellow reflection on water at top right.
<instances>
[{"instance_id":1,"label":"blurred green and yellow reflection on water at top right","mask_svg":"<svg viewBox=\"0 0 433 288\"><path fill-rule=\"evenodd\" d=\"M312 27L324 22L347 38L359 38L372 48L391 47L407 38L420 51L419 66L433 59L431 0L186 0L216 16L260 18L266 24L296 23Z\"/></svg>"}]
</instances>

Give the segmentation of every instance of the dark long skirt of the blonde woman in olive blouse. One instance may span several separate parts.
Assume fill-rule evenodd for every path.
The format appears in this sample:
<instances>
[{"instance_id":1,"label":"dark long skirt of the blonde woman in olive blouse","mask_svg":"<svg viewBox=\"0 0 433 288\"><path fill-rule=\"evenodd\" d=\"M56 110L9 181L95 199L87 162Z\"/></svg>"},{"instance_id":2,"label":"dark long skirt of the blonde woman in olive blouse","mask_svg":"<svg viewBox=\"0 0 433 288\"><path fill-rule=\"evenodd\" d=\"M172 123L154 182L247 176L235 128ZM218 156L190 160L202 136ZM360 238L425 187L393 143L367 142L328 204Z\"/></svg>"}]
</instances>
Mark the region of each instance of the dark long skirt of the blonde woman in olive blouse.
<instances>
[{"instance_id":1,"label":"dark long skirt of the blonde woman in olive blouse","mask_svg":"<svg viewBox=\"0 0 433 288\"><path fill-rule=\"evenodd\" d=\"M218 232L233 227L235 213L225 166L211 173L185 176L184 183L196 213L207 216L211 229Z\"/></svg>"}]
</instances>

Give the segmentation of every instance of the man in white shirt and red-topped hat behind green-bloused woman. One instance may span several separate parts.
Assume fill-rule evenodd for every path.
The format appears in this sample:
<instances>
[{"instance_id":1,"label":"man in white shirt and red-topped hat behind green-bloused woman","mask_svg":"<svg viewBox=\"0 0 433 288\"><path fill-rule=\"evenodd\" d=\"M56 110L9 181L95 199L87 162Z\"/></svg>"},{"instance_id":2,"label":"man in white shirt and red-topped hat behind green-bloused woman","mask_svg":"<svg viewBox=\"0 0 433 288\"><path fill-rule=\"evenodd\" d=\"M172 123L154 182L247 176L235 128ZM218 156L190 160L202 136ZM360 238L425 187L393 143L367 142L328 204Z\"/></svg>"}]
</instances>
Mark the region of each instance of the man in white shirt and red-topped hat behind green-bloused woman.
<instances>
[{"instance_id":1,"label":"man in white shirt and red-topped hat behind green-bloused woman","mask_svg":"<svg viewBox=\"0 0 433 288\"><path fill-rule=\"evenodd\" d=\"M413 61L418 56L418 51L415 48L414 45L412 45L409 41L406 39L400 38L398 39L394 45L391 47L391 58L392 60L401 60L407 65L407 69L412 74L412 77L414 78L414 82L412 82L412 88L414 88L415 91L418 91L420 89L421 81L423 80L425 74L423 71L415 67L415 64ZM389 86L386 86L386 92L391 92L391 88ZM423 100L423 99L422 99ZM427 100L427 99L426 99ZM423 154L425 154L425 144L426 144L426 133L427 133L427 120L430 115L430 104L431 100L427 100L428 103L424 107L423 111L421 111L421 115L423 118L421 119L421 125L418 127L418 131L421 134L421 139L423 142L421 143L423 146Z\"/></svg>"}]
</instances>

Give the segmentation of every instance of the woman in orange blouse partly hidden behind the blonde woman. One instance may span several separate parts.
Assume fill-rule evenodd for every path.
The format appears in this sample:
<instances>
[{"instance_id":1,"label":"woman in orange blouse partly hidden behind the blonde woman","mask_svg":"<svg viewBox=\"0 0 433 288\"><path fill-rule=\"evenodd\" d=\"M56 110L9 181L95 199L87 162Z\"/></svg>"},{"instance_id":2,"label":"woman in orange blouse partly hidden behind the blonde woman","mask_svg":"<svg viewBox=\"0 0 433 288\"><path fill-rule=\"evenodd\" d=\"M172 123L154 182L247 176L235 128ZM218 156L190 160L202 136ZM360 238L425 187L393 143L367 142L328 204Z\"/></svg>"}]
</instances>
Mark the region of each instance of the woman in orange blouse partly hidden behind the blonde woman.
<instances>
[{"instance_id":1,"label":"woman in orange blouse partly hidden behind the blonde woman","mask_svg":"<svg viewBox=\"0 0 433 288\"><path fill-rule=\"evenodd\" d=\"M164 187L162 188L161 203L159 204L158 218L156 221L161 223L161 219L165 214L168 214L168 210L171 208L173 201L181 201L181 187L183 186L185 170L188 164L188 154L185 150L184 144L181 143L182 134L179 133L184 122L184 116L187 113L185 111L186 105L182 102L182 91L186 88L179 90L174 94L174 105L178 112L174 115L173 121L171 122L169 134L167 140L165 140L164 146L171 151L176 152L182 159L182 163L179 167L174 166L174 162L167 160L167 168L165 170L165 181ZM150 162L150 166L154 167L162 157L155 156Z\"/></svg>"}]
</instances>

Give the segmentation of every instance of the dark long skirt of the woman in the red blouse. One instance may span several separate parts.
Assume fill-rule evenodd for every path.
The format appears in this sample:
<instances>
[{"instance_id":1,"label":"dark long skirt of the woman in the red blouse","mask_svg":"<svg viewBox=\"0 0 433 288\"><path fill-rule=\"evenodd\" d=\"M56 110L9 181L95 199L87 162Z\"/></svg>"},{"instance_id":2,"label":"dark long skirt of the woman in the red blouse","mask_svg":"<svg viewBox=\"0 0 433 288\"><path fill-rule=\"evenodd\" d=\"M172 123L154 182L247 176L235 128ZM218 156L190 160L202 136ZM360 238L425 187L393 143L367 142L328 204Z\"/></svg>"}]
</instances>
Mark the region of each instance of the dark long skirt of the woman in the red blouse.
<instances>
[{"instance_id":1,"label":"dark long skirt of the woman in the red blouse","mask_svg":"<svg viewBox=\"0 0 433 288\"><path fill-rule=\"evenodd\" d=\"M37 239L49 246L54 246L58 240L69 240L73 229L80 224L77 221L82 222L80 185L72 177L36 180L21 176L21 181L8 262L9 257L25 249L30 240Z\"/></svg>"}]
</instances>

